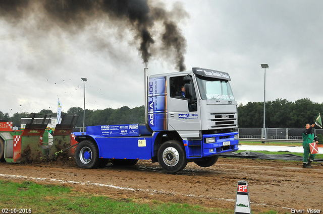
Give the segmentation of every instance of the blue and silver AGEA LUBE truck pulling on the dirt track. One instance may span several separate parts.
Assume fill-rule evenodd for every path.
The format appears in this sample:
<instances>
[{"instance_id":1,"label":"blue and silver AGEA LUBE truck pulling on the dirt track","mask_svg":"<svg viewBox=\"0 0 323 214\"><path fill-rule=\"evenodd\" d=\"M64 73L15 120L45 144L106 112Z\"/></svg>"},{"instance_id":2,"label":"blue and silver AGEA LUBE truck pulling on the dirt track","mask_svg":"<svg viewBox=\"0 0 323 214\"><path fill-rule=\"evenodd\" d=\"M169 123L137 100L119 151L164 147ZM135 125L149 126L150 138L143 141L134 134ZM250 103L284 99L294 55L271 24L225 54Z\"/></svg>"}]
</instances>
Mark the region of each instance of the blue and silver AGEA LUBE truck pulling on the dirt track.
<instances>
[{"instance_id":1,"label":"blue and silver AGEA LUBE truck pulling on the dirt track","mask_svg":"<svg viewBox=\"0 0 323 214\"><path fill-rule=\"evenodd\" d=\"M209 167L238 150L237 102L228 73L193 67L186 72L145 73L146 124L87 126L75 132L81 168L158 162L170 173L188 162Z\"/></svg>"}]
</instances>

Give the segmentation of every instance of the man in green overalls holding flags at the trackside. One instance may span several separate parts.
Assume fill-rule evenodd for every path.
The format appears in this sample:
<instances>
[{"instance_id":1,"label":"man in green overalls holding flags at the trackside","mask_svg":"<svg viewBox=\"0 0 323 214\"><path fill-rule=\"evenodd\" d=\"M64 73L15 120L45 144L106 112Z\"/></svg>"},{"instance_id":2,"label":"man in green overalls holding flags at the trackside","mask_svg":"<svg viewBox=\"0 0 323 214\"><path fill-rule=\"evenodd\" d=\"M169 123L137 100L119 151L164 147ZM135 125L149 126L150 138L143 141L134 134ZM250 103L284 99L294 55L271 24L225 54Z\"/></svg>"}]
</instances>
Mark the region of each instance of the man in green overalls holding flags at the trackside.
<instances>
[{"instance_id":1,"label":"man in green overalls holding flags at the trackside","mask_svg":"<svg viewBox=\"0 0 323 214\"><path fill-rule=\"evenodd\" d=\"M303 159L303 168L312 168L311 163L314 161L316 154L310 154L309 144L315 140L315 143L318 144L318 139L313 133L313 127L315 124L310 125L307 123L305 125L305 130L303 131L303 148L304 148L304 159Z\"/></svg>"}]
</instances>

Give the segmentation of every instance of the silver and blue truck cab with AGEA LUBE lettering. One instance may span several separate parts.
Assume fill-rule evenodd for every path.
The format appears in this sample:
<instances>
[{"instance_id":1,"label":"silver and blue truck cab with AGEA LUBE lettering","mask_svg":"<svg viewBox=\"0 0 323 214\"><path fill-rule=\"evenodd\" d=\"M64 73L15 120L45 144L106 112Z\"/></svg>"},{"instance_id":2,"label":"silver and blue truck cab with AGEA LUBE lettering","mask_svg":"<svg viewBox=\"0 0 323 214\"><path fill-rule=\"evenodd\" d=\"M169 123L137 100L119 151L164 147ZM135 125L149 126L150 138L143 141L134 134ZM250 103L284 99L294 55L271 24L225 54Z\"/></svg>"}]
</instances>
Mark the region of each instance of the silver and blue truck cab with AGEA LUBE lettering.
<instances>
[{"instance_id":1,"label":"silver and blue truck cab with AGEA LUBE lettering","mask_svg":"<svg viewBox=\"0 0 323 214\"><path fill-rule=\"evenodd\" d=\"M237 102L230 81L228 73L196 67L189 72L151 76L149 127L153 131L174 130L181 137L237 128Z\"/></svg>"}]
</instances>

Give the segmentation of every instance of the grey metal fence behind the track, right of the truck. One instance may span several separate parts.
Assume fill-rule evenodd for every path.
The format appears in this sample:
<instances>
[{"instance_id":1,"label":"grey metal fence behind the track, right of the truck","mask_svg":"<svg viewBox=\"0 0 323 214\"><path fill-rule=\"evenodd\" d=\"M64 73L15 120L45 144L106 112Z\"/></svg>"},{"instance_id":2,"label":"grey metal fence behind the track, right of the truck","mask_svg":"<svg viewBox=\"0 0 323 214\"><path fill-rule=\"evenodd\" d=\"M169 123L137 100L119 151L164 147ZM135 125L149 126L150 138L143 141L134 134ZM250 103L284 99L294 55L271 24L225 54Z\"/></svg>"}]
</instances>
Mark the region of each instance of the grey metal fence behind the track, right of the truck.
<instances>
[{"instance_id":1,"label":"grey metal fence behind the track, right of the truck","mask_svg":"<svg viewBox=\"0 0 323 214\"><path fill-rule=\"evenodd\" d=\"M265 136L262 134L262 129L238 128L239 138L302 139L302 133L305 128L265 128ZM323 135L323 129L314 128L314 133Z\"/></svg>"}]
</instances>

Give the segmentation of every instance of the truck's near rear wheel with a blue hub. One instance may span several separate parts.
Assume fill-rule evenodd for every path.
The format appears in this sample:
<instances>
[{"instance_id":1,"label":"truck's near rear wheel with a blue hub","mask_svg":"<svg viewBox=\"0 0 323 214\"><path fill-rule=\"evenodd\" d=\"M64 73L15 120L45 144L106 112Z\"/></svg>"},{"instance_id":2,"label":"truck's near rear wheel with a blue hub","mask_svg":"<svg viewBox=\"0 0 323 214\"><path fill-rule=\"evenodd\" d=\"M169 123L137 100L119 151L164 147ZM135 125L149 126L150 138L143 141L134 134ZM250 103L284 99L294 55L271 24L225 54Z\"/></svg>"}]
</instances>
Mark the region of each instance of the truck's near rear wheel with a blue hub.
<instances>
[{"instance_id":1,"label":"truck's near rear wheel with a blue hub","mask_svg":"<svg viewBox=\"0 0 323 214\"><path fill-rule=\"evenodd\" d=\"M80 168L96 168L100 163L95 142L83 140L77 145L75 149L75 162Z\"/></svg>"}]
</instances>

